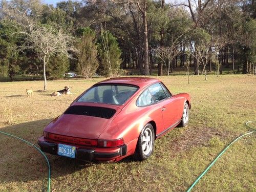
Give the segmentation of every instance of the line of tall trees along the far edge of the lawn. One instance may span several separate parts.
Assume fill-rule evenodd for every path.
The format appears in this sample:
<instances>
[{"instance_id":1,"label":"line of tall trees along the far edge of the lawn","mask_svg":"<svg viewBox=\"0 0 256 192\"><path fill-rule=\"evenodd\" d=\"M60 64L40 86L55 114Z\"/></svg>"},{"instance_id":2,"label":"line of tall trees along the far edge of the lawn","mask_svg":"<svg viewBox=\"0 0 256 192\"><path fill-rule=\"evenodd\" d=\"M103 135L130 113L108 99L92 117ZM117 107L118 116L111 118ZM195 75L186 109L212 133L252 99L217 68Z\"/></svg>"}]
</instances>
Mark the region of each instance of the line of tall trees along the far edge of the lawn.
<instances>
[{"instance_id":1,"label":"line of tall trees along the far edge of the lawn","mask_svg":"<svg viewBox=\"0 0 256 192\"><path fill-rule=\"evenodd\" d=\"M253 0L1 1L0 70L60 78L255 69ZM46 84L46 83L45 83ZM46 88L45 88L46 89Z\"/></svg>"}]
</instances>

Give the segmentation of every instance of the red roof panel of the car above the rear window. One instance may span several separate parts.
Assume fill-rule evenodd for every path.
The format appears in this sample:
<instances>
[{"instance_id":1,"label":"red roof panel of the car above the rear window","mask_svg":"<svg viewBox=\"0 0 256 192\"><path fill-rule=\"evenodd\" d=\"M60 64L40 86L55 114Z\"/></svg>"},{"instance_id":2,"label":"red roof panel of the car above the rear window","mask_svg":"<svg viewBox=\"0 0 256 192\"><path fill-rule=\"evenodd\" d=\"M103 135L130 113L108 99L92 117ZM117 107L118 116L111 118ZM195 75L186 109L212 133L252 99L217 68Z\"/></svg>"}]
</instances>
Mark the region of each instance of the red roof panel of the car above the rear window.
<instances>
[{"instance_id":1,"label":"red roof panel of the car above the rear window","mask_svg":"<svg viewBox=\"0 0 256 192\"><path fill-rule=\"evenodd\" d=\"M110 78L103 81L100 81L96 84L101 83L122 83L122 84L132 84L134 86L138 86L140 88L144 88L153 84L155 82L161 82L159 79L151 78L151 77L118 77L118 78Z\"/></svg>"}]
</instances>

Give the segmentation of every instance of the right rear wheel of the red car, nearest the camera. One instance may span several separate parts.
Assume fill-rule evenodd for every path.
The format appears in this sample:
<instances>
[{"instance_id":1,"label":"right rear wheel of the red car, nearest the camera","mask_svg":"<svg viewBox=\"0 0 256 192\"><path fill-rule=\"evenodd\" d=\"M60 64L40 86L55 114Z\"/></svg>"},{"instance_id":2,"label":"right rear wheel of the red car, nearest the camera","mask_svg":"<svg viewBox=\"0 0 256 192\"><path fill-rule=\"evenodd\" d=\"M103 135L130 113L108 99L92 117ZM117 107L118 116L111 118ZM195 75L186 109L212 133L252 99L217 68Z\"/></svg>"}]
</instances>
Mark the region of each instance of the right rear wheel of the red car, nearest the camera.
<instances>
[{"instance_id":1,"label":"right rear wheel of the red car, nearest the camera","mask_svg":"<svg viewBox=\"0 0 256 192\"><path fill-rule=\"evenodd\" d=\"M145 137L147 135L147 137ZM144 137L143 137L144 136ZM148 138L150 137L150 138ZM151 156L154 150L155 132L151 123L147 123L142 131L137 142L136 150L133 158L138 161L146 160Z\"/></svg>"}]
</instances>

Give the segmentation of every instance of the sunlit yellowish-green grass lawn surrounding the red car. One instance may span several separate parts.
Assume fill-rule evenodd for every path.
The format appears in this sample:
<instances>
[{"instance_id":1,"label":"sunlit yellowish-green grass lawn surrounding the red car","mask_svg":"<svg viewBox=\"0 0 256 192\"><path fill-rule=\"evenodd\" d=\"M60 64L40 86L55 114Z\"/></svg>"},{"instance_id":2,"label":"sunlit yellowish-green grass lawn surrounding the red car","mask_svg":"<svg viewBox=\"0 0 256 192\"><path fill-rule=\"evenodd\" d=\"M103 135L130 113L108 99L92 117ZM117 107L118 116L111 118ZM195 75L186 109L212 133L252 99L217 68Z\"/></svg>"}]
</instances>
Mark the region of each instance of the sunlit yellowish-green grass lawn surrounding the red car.
<instances>
[{"instance_id":1,"label":"sunlit yellowish-green grass lawn surrounding the red car","mask_svg":"<svg viewBox=\"0 0 256 192\"><path fill-rule=\"evenodd\" d=\"M249 132L256 120L256 76L214 75L159 77L176 94L191 95L189 125L156 140L152 157L143 162L93 164L49 155L52 191L185 191L234 138ZM0 82L0 130L32 143L84 90L102 79ZM70 86L69 96L51 97ZM25 89L33 89L31 97ZM11 124L10 124L10 123ZM254 124L254 127L256 125ZM0 191L42 191L47 164L33 147L0 135ZM193 191L255 191L255 134L232 145Z\"/></svg>"}]
</instances>

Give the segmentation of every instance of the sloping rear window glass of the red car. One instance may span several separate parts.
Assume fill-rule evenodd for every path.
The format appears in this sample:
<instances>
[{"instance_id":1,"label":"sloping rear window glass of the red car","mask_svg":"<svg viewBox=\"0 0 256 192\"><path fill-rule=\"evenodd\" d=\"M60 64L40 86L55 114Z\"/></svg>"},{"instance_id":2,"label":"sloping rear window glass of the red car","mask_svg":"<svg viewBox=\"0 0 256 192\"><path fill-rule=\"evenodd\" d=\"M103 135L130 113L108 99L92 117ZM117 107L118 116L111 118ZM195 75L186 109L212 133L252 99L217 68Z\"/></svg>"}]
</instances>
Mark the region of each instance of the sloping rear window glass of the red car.
<instances>
[{"instance_id":1,"label":"sloping rear window glass of the red car","mask_svg":"<svg viewBox=\"0 0 256 192\"><path fill-rule=\"evenodd\" d=\"M124 84L99 84L84 93L77 102L95 102L121 105L138 87Z\"/></svg>"}]
</instances>

